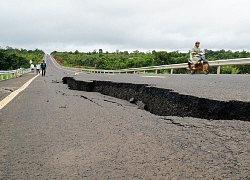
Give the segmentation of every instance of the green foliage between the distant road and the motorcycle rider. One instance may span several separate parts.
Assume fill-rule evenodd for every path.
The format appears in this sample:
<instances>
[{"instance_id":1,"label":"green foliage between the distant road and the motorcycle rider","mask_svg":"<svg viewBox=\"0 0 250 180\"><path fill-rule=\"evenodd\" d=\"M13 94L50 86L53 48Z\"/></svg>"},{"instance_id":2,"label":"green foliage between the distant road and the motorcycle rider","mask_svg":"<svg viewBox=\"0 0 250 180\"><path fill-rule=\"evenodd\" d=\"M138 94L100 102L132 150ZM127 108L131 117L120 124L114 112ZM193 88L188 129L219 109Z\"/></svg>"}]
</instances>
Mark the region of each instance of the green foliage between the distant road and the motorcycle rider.
<instances>
[{"instance_id":1,"label":"green foliage between the distant road and the motorcycle rider","mask_svg":"<svg viewBox=\"0 0 250 180\"><path fill-rule=\"evenodd\" d=\"M78 52L78 51L77 51ZM144 53L139 51L133 51L128 53L116 52L116 53L69 53L69 52L52 52L52 56L64 66L76 66L76 67L96 67L98 69L125 69L147 66L158 66L164 64L173 64L179 62L186 62L186 53L165 51L153 51L152 53Z\"/></svg>"}]
</instances>

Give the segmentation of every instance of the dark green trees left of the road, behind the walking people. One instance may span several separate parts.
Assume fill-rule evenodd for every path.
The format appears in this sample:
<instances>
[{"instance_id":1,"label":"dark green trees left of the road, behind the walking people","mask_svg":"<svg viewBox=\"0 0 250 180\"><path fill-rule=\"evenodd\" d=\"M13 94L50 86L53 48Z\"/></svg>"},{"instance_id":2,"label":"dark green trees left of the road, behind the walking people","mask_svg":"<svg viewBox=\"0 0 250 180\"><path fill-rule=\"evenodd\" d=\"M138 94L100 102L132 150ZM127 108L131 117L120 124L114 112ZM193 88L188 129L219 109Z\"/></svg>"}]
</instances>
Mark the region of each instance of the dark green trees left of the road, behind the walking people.
<instances>
[{"instance_id":1,"label":"dark green trees left of the road, behind the walking people","mask_svg":"<svg viewBox=\"0 0 250 180\"><path fill-rule=\"evenodd\" d=\"M19 68L29 68L30 60L34 64L41 63L44 52L39 49L26 50L12 47L0 48L0 70L14 70Z\"/></svg>"}]
</instances>

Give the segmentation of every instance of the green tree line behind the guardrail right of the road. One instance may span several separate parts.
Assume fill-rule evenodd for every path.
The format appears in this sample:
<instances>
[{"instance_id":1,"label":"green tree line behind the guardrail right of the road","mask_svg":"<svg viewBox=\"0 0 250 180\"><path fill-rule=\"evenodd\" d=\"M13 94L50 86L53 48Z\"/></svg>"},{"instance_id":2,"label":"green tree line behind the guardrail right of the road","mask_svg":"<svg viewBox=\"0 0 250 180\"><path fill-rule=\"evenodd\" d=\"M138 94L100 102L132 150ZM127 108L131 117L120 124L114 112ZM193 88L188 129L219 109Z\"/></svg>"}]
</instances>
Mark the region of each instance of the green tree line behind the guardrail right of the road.
<instances>
[{"instance_id":1,"label":"green tree line behind the guardrail right of the road","mask_svg":"<svg viewBox=\"0 0 250 180\"><path fill-rule=\"evenodd\" d=\"M249 58L250 53L243 51L231 50L205 50L207 52L207 60L214 61L220 59L236 59ZM138 50L129 53L128 51L120 52L105 52L100 49L93 52L57 52L54 51L51 55L56 61L63 66L97 68L106 70L127 69L147 66L159 66L168 64L186 63L189 58L189 52L183 53L179 51L155 51L139 52ZM216 67L211 67L211 73L216 73ZM222 66L222 74L246 74L250 72L250 66ZM170 73L169 70L161 70L159 73ZM188 73L186 69L177 69L175 73Z\"/></svg>"}]
</instances>

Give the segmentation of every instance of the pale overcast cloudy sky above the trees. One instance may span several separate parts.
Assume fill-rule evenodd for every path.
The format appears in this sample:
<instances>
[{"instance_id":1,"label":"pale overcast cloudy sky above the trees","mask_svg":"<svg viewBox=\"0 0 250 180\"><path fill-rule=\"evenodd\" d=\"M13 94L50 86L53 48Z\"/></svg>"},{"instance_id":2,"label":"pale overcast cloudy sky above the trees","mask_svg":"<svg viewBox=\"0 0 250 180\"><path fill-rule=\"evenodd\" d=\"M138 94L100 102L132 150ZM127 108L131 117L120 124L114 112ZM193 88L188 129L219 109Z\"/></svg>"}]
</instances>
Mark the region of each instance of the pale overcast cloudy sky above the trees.
<instances>
[{"instance_id":1,"label":"pale overcast cloudy sky above the trees","mask_svg":"<svg viewBox=\"0 0 250 180\"><path fill-rule=\"evenodd\" d=\"M249 0L0 0L0 47L250 51Z\"/></svg>"}]
</instances>

